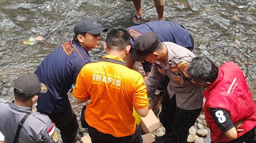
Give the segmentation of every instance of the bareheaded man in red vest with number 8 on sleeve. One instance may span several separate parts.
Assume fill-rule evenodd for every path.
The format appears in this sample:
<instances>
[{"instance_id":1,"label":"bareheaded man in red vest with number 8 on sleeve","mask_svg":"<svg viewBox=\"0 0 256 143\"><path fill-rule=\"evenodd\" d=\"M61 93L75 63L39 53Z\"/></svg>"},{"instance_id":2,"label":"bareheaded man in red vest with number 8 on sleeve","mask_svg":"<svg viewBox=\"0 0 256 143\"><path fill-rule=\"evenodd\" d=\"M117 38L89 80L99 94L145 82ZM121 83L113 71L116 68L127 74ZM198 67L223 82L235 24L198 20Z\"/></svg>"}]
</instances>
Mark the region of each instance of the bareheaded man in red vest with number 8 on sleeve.
<instances>
[{"instance_id":1,"label":"bareheaded man in red vest with number 8 on sleeve","mask_svg":"<svg viewBox=\"0 0 256 143\"><path fill-rule=\"evenodd\" d=\"M188 65L188 75L206 88L203 111L212 143L256 143L256 104L241 69L232 62L218 68L199 56Z\"/></svg>"}]
</instances>

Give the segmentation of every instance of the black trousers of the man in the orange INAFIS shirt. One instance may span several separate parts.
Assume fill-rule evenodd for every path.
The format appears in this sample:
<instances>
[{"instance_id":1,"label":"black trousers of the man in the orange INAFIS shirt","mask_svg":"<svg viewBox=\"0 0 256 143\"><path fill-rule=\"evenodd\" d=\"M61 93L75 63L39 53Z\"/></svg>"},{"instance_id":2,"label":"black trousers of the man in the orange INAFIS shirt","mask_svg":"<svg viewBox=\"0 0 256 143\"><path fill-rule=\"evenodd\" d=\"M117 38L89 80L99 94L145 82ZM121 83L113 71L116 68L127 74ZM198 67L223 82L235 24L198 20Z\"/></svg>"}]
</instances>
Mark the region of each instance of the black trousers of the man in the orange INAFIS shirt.
<instances>
[{"instance_id":1,"label":"black trousers of the man in the orange INAFIS shirt","mask_svg":"<svg viewBox=\"0 0 256 143\"><path fill-rule=\"evenodd\" d=\"M114 137L111 134L101 133L90 126L88 126L88 133L92 143L142 143L141 129L137 124L135 133L126 137Z\"/></svg>"}]
</instances>

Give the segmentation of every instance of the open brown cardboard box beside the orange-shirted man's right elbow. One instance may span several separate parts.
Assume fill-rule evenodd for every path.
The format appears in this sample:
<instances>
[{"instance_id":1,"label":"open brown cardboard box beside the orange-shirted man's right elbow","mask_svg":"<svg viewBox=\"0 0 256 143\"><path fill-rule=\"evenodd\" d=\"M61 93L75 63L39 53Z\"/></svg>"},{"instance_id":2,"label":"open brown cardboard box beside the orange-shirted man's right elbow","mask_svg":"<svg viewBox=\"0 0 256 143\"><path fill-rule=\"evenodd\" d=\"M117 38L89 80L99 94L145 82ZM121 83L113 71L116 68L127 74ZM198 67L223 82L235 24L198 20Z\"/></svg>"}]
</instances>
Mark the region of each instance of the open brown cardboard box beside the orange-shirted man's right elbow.
<instances>
[{"instance_id":1,"label":"open brown cardboard box beside the orange-shirted man's right elbow","mask_svg":"<svg viewBox=\"0 0 256 143\"><path fill-rule=\"evenodd\" d=\"M148 110L148 114L146 117L141 117L140 127L146 133L153 132L161 126L161 123L158 121L152 110Z\"/></svg>"}]
</instances>

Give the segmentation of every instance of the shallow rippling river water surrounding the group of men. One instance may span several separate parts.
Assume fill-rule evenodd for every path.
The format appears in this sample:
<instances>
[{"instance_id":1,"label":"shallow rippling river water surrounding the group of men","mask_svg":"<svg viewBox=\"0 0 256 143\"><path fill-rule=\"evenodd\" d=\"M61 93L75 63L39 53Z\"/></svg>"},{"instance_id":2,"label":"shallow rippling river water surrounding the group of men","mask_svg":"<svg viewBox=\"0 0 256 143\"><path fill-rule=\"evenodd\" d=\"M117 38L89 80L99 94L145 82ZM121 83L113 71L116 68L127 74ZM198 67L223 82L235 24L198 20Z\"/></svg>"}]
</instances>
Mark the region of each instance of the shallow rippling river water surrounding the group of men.
<instances>
[{"instance_id":1,"label":"shallow rippling river water surrounding the group of men","mask_svg":"<svg viewBox=\"0 0 256 143\"><path fill-rule=\"evenodd\" d=\"M152 0L142 0L145 22L157 19ZM132 26L132 2L125 0L0 0L0 98L13 100L14 80L34 73L40 62L58 44L73 37L77 21L93 17L104 27ZM164 19L176 21L195 40L194 53L210 57L218 66L238 64L256 100L256 0L166 0ZM45 40L24 45L29 36ZM90 52L98 61L101 48ZM140 64L135 67L142 71ZM81 105L70 101L76 114ZM80 136L83 130L80 129Z\"/></svg>"}]
</instances>

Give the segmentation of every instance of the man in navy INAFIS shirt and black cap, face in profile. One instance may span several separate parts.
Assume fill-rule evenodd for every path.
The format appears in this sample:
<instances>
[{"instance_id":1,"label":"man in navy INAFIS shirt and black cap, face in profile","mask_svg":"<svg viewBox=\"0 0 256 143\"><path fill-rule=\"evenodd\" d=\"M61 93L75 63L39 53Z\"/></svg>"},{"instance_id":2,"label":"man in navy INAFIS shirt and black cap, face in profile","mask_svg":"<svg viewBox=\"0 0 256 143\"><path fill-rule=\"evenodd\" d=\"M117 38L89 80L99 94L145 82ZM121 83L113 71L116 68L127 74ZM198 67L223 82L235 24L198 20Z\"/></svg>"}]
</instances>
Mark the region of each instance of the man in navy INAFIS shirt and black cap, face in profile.
<instances>
[{"instance_id":1,"label":"man in navy INAFIS shirt and black cap, face in profile","mask_svg":"<svg viewBox=\"0 0 256 143\"><path fill-rule=\"evenodd\" d=\"M93 18L81 19L74 28L74 39L60 44L35 71L39 80L48 87L47 93L39 94L37 110L47 114L56 124L64 143L78 140L78 123L67 92L76 83L81 68L90 63L88 51L99 48L102 31L107 29L95 25Z\"/></svg>"}]
</instances>

